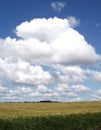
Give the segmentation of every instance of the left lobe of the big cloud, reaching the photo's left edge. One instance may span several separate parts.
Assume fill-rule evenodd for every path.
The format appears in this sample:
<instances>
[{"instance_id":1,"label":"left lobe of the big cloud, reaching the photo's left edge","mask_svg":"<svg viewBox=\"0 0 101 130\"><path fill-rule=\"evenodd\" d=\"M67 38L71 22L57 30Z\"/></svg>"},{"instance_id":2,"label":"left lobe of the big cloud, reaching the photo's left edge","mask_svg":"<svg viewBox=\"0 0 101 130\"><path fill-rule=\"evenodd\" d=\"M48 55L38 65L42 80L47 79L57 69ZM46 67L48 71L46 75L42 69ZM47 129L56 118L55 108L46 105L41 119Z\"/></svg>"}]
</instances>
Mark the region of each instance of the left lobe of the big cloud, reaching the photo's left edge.
<instances>
[{"instance_id":1,"label":"left lobe of the big cloud, reaching the photo's left edge","mask_svg":"<svg viewBox=\"0 0 101 130\"><path fill-rule=\"evenodd\" d=\"M52 55L47 43L41 43L34 38L16 40L7 37L6 39L0 40L0 45L1 58L21 58L33 61L34 63L44 63Z\"/></svg>"}]
</instances>

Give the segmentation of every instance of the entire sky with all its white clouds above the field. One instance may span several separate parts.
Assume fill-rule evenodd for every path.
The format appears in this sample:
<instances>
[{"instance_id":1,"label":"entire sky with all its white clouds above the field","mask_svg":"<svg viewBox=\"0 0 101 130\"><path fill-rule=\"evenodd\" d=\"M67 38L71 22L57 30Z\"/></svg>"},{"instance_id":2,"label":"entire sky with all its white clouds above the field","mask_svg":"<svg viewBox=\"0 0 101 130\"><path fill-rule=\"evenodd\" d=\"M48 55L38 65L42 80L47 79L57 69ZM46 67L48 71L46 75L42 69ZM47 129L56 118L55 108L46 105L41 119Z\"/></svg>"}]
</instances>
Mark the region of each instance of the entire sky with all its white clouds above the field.
<instances>
[{"instance_id":1,"label":"entire sky with all its white clouds above the field","mask_svg":"<svg viewBox=\"0 0 101 130\"><path fill-rule=\"evenodd\" d=\"M0 0L0 102L101 100L100 0Z\"/></svg>"}]
</instances>

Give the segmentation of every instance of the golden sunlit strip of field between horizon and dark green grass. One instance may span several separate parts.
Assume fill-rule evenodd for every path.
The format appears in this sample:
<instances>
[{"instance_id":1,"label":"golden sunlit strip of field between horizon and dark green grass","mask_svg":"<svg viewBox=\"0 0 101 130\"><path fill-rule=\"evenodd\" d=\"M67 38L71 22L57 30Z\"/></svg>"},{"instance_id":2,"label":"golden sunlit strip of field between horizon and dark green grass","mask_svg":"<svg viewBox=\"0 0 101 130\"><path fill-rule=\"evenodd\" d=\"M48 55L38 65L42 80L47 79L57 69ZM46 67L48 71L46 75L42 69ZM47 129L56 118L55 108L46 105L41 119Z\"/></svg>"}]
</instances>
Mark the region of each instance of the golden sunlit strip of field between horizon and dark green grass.
<instances>
[{"instance_id":1,"label":"golden sunlit strip of field between horizon and dark green grass","mask_svg":"<svg viewBox=\"0 0 101 130\"><path fill-rule=\"evenodd\" d=\"M101 112L101 101L71 103L0 103L0 118Z\"/></svg>"}]
</instances>

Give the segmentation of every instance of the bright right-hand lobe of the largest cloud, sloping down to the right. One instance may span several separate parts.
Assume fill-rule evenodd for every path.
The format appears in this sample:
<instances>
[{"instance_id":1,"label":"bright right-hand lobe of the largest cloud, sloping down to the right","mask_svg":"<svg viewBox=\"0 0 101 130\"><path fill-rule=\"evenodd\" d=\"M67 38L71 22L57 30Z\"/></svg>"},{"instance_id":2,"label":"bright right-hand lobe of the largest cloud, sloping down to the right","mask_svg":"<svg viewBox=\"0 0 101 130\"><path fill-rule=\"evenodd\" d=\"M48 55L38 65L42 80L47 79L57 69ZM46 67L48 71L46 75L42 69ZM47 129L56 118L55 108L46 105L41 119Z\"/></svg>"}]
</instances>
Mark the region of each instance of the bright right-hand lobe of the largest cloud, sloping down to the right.
<instances>
[{"instance_id":1,"label":"bright right-hand lobe of the largest cloud, sloping down to the right","mask_svg":"<svg viewBox=\"0 0 101 130\"><path fill-rule=\"evenodd\" d=\"M69 28L52 44L53 62L60 64L91 64L100 58L84 37Z\"/></svg>"}]
</instances>

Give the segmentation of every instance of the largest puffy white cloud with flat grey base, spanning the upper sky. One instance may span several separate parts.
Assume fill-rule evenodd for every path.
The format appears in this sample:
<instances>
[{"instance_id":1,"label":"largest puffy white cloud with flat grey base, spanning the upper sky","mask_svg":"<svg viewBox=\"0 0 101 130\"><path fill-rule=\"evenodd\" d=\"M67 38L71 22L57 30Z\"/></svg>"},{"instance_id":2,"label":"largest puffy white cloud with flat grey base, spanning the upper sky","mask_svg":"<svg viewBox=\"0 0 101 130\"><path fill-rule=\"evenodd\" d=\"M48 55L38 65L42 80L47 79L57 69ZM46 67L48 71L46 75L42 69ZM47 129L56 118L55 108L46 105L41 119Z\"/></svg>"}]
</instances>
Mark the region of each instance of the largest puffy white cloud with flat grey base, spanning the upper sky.
<instances>
[{"instance_id":1,"label":"largest puffy white cloud with flat grey base, spanning the upper sky","mask_svg":"<svg viewBox=\"0 0 101 130\"><path fill-rule=\"evenodd\" d=\"M88 65L99 60L95 48L71 25L70 20L57 17L23 22L16 27L20 40L10 37L0 40L0 55L41 65Z\"/></svg>"}]
</instances>

